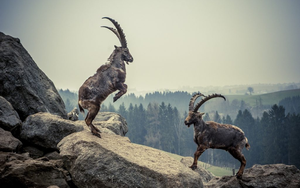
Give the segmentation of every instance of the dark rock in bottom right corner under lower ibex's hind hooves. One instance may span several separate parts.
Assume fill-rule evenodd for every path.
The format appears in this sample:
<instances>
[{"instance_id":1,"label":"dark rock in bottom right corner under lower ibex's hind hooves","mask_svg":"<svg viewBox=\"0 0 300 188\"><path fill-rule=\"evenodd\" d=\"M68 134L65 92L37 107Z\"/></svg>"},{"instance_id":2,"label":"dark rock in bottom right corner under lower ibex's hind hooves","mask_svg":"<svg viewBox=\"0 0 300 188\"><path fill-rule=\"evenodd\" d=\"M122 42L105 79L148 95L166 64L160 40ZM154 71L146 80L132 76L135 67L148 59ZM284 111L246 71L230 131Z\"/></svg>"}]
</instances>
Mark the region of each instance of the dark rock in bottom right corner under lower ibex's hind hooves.
<instances>
[{"instance_id":1,"label":"dark rock in bottom right corner under lower ibex's hind hooves","mask_svg":"<svg viewBox=\"0 0 300 188\"><path fill-rule=\"evenodd\" d=\"M254 165L245 169L241 179L234 176L215 177L206 185L207 188L298 188L300 170L293 165Z\"/></svg>"}]
</instances>

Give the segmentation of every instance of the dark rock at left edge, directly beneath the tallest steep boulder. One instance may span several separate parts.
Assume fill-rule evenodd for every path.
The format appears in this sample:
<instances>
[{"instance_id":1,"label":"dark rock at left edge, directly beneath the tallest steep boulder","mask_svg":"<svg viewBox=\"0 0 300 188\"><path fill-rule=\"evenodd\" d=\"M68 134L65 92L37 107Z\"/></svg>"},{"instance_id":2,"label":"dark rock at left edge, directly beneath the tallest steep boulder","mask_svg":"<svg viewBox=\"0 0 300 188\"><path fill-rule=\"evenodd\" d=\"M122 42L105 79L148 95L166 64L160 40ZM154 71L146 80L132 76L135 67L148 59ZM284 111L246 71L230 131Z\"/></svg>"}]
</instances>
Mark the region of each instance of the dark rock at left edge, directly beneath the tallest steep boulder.
<instances>
[{"instance_id":1,"label":"dark rock at left edge, directly beneath the tallest steep boulder","mask_svg":"<svg viewBox=\"0 0 300 188\"><path fill-rule=\"evenodd\" d=\"M11 132L19 128L21 124L22 121L13 106L0 96L0 128Z\"/></svg>"}]
</instances>

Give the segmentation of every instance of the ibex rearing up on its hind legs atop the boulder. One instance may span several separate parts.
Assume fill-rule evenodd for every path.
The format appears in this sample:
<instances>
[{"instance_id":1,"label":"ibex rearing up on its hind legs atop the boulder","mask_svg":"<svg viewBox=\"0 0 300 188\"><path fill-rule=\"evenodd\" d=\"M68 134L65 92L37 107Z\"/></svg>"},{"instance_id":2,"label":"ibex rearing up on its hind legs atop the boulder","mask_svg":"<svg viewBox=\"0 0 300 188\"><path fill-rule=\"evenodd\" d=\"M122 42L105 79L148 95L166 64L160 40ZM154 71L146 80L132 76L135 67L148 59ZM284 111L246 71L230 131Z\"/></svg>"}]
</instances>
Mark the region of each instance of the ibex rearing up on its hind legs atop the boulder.
<instances>
[{"instance_id":1,"label":"ibex rearing up on its hind legs atop the boulder","mask_svg":"<svg viewBox=\"0 0 300 188\"><path fill-rule=\"evenodd\" d=\"M133 62L133 58L127 48L125 35L120 25L111 18L104 18L110 20L117 30L107 26L103 27L114 32L119 38L122 46L115 46L115 50L108 58L108 62L98 68L93 76L85 80L78 92L78 105L80 111L84 113L83 108L88 110L88 114L85 117L85 123L91 128L93 135L96 135L99 138L101 138L101 132L92 124L92 121L95 119L100 110L101 103L107 96L116 90L119 90L113 98L113 102L115 102L127 92L127 85L124 83L126 78L124 61L126 61L127 64L128 62Z\"/></svg>"}]
</instances>

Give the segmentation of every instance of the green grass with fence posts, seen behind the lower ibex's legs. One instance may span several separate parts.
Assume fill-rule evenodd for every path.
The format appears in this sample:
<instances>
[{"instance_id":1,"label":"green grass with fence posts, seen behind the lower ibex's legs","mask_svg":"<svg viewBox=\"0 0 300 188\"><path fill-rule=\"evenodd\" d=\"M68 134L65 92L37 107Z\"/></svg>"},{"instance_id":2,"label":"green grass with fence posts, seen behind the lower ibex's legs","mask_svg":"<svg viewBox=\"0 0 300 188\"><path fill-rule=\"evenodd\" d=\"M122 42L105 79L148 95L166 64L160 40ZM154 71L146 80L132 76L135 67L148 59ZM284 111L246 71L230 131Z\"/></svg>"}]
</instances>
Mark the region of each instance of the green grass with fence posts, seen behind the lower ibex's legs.
<instances>
[{"instance_id":1,"label":"green grass with fence posts, seen behind the lower ibex's legs","mask_svg":"<svg viewBox=\"0 0 300 188\"><path fill-rule=\"evenodd\" d=\"M137 145L140 145L140 144L137 144ZM143 146L143 145L140 145L140 146ZM145 147L148 147L148 146L145 146ZM166 151L163 151L163 150L160 150L161 152L164 152L166 153L168 156L170 157L173 157L174 159L176 159L177 161L180 161L183 156L180 156L180 155L176 155L174 153L169 153L169 152L166 152ZM198 161L198 166L204 166L205 167L205 163L202 162L202 161ZM226 170L224 168L220 168L218 166L211 166L209 164L206 164L206 170L210 171L211 173L213 173L215 176L232 176L232 171L231 170ZM235 169L235 172L237 172L238 169Z\"/></svg>"}]
</instances>

